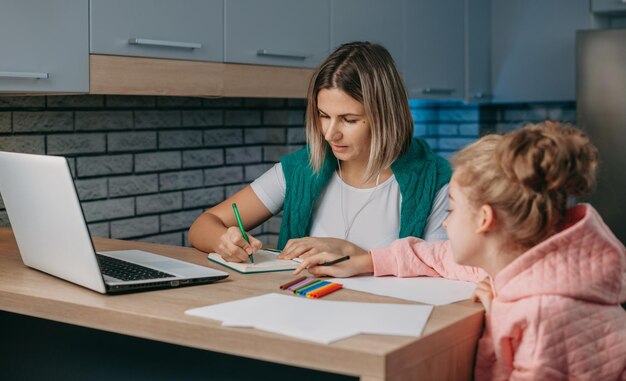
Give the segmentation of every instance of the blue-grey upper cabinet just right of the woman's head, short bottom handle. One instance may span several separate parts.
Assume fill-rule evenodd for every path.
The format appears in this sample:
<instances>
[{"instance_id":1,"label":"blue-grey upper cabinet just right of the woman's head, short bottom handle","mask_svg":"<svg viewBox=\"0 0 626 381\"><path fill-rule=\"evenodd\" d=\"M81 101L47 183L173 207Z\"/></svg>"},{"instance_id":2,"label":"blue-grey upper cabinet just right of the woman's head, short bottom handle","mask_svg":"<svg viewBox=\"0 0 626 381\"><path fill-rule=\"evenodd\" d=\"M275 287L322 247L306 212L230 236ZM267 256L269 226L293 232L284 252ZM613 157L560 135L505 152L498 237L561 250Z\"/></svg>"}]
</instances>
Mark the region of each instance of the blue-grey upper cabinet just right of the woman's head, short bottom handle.
<instances>
[{"instance_id":1,"label":"blue-grey upper cabinet just right of the woman's head, short bottom handle","mask_svg":"<svg viewBox=\"0 0 626 381\"><path fill-rule=\"evenodd\" d=\"M464 97L464 0L407 0L405 81L409 96Z\"/></svg>"}]
</instances>

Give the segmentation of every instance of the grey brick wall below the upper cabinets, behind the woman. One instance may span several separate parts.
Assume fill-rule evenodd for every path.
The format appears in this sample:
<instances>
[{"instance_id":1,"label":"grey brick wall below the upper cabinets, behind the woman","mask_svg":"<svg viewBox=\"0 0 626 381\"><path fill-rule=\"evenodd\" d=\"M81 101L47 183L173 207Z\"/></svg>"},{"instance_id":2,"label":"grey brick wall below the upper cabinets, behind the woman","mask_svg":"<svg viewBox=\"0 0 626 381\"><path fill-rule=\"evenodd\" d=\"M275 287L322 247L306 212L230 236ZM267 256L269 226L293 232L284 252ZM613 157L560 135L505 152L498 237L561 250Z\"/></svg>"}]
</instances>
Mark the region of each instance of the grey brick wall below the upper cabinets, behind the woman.
<instances>
[{"instance_id":1,"label":"grey brick wall below the upper cabinets, behind the woman","mask_svg":"<svg viewBox=\"0 0 626 381\"><path fill-rule=\"evenodd\" d=\"M304 146L305 107L301 99L0 96L0 150L67 157L93 235L186 245L203 210ZM411 109L415 136L444 157L486 133L576 117L573 103L412 100ZM252 234L275 243L280 221ZM1 199L0 226L9 226Z\"/></svg>"}]
</instances>

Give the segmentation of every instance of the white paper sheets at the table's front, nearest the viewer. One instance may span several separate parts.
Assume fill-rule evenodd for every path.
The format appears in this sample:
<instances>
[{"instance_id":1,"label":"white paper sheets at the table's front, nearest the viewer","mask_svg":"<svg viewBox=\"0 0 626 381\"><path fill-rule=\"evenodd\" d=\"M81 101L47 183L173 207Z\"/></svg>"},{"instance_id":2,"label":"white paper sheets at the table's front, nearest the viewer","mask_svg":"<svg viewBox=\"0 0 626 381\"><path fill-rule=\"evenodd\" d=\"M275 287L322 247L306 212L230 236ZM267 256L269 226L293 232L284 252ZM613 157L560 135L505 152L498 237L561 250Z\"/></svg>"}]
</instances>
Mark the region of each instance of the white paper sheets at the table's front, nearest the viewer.
<instances>
[{"instance_id":1,"label":"white paper sheets at the table's front, nearest the viewer","mask_svg":"<svg viewBox=\"0 0 626 381\"><path fill-rule=\"evenodd\" d=\"M358 333L420 336L432 309L432 306L325 301L272 293L185 313L221 320L224 326L254 327L328 344Z\"/></svg>"}]
</instances>

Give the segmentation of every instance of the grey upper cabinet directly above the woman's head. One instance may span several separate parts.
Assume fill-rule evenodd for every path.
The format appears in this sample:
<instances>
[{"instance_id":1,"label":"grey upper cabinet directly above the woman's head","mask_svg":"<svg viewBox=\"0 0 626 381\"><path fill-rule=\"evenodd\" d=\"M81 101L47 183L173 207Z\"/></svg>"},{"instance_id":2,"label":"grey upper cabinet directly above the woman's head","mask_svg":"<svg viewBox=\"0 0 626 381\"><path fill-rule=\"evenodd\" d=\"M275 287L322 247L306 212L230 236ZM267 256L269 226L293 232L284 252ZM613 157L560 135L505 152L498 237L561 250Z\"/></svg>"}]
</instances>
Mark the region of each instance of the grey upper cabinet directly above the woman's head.
<instances>
[{"instance_id":1,"label":"grey upper cabinet directly above the woman's head","mask_svg":"<svg viewBox=\"0 0 626 381\"><path fill-rule=\"evenodd\" d=\"M330 49L352 41L380 44L403 72L405 0L331 0Z\"/></svg>"}]
</instances>

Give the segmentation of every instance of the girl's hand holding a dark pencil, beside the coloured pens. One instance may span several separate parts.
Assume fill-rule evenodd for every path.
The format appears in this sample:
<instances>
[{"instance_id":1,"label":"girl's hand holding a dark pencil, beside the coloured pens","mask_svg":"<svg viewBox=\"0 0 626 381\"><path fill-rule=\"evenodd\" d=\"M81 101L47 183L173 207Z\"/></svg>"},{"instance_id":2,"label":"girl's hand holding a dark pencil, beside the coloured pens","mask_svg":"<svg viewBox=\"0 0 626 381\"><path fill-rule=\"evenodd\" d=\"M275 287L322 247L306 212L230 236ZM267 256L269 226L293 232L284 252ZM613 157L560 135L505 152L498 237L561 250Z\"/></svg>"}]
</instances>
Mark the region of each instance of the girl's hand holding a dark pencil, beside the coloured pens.
<instances>
[{"instance_id":1,"label":"girl's hand holding a dark pencil, beside the coloured pens","mask_svg":"<svg viewBox=\"0 0 626 381\"><path fill-rule=\"evenodd\" d=\"M343 254L322 252L307 257L300 266L293 272L294 275L308 270L313 276L332 276L335 278L348 278L354 275L374 272L372 256L366 252L365 255L350 256L347 261L331 266L320 266L326 262L343 257Z\"/></svg>"}]
</instances>

